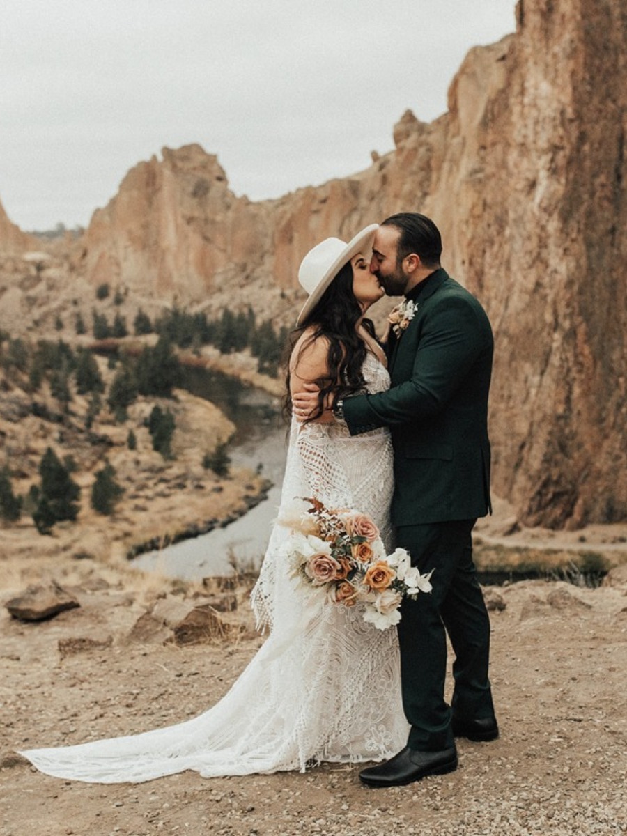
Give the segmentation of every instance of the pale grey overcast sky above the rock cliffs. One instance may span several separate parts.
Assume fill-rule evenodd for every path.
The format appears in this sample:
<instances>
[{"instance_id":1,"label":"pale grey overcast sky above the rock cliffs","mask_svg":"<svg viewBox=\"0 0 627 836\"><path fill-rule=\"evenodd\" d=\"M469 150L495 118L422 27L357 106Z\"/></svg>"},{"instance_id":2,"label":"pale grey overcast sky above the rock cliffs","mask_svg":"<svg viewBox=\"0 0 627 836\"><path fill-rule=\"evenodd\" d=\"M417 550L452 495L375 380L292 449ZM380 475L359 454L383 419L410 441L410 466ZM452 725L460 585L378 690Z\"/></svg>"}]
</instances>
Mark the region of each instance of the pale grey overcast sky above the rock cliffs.
<instances>
[{"instance_id":1,"label":"pale grey overcast sky above the rock cliffs","mask_svg":"<svg viewBox=\"0 0 627 836\"><path fill-rule=\"evenodd\" d=\"M3 0L0 200L86 225L132 166L199 142L252 200L362 171L425 121L514 0Z\"/></svg>"}]
</instances>

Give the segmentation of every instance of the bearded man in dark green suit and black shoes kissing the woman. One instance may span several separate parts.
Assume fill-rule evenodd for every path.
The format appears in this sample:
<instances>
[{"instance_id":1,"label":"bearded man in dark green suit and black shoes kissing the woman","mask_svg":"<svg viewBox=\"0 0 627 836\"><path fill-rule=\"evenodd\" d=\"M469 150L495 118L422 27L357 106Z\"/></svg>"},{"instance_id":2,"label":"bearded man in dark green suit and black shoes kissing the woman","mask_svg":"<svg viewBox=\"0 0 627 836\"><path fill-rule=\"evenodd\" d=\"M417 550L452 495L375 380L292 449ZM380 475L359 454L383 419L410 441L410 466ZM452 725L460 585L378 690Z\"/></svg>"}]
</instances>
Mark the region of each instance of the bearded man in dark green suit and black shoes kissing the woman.
<instances>
[{"instance_id":1,"label":"bearded man in dark green suit and black shoes kissing the woman","mask_svg":"<svg viewBox=\"0 0 627 836\"><path fill-rule=\"evenodd\" d=\"M393 787L457 767L454 737L498 737L488 680L490 624L472 562L471 532L491 511L487 396L493 339L477 299L440 266L441 236L424 215L387 218L370 270L389 296L404 295L387 346L390 390L338 400L351 435L390 426L392 523L397 545L431 594L404 599L398 625L407 746L364 769L371 787ZM307 396L296 409L311 410ZM446 634L455 652L451 706L444 699Z\"/></svg>"}]
</instances>

